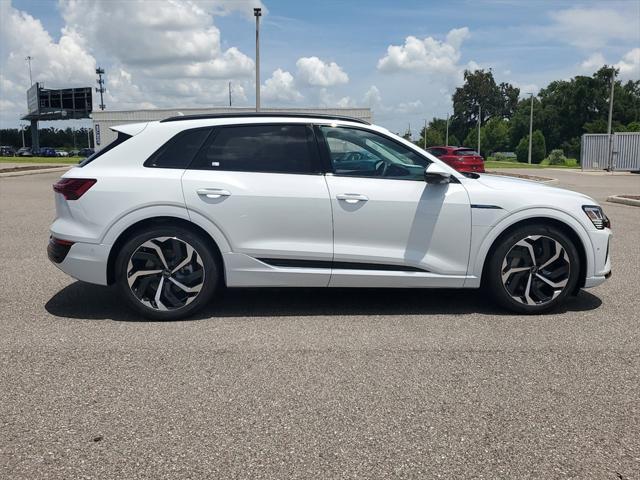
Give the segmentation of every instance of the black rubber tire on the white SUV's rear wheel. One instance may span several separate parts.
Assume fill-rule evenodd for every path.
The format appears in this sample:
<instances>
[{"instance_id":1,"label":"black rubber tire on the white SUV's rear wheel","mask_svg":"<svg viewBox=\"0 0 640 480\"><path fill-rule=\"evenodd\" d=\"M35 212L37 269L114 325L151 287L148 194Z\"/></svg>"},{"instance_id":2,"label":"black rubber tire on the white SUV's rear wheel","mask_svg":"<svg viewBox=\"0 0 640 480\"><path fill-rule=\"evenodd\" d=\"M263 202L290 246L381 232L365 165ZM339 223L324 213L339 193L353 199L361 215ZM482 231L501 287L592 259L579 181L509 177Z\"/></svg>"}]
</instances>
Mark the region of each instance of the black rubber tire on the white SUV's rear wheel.
<instances>
[{"instance_id":1,"label":"black rubber tire on the white SUV's rear wheel","mask_svg":"<svg viewBox=\"0 0 640 480\"><path fill-rule=\"evenodd\" d=\"M168 238L159 242L158 239L163 237ZM146 242L161 248L163 263L168 267L160 265L162 259L154 253L154 249L143 246ZM187 250L188 247L185 244L195 250L195 256L193 252ZM187 261L189 252L191 253L189 264L176 273L171 273L173 267L180 265L181 259ZM134 253L136 256L132 259ZM154 256L156 258L153 258ZM134 262L135 265L144 262L145 267L138 270L144 269L146 272L162 269L163 273L138 277L130 286L129 278L132 276L131 273L135 273L134 268L128 271L130 260L132 260L132 267ZM147 265L152 266L147 267ZM162 283L160 283L161 277L164 277ZM182 287L195 286L199 291L185 293L182 288L178 288L173 281L170 281L169 277L173 277L175 281L183 280ZM131 309L150 320L179 320L193 315L211 300L220 283L219 279L220 266L211 251L209 242L201 235L180 226L158 226L135 233L122 246L115 262L116 288ZM145 285L141 284L142 281L146 282ZM154 285L155 293L157 293L157 287L162 286L160 305L155 303L155 297L149 296L154 293ZM147 305L143 302L147 302Z\"/></svg>"}]
</instances>

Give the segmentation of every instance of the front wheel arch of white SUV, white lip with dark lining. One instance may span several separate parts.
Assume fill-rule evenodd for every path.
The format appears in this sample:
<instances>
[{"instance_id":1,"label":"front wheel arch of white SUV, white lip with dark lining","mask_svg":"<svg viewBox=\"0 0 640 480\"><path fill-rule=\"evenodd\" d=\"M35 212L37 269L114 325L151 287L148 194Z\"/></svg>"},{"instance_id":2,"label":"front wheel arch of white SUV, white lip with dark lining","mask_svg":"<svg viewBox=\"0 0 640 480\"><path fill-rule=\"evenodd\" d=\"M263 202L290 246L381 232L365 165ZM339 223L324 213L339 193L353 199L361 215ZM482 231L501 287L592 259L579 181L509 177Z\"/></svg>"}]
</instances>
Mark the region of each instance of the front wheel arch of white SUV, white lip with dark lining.
<instances>
[{"instance_id":1,"label":"front wheel arch of white SUV, white lip with dark lining","mask_svg":"<svg viewBox=\"0 0 640 480\"><path fill-rule=\"evenodd\" d=\"M564 218L563 218L564 217ZM576 246L580 256L580 272L577 288L582 288L591 270L593 270L593 250L591 241L584 228L572 217L554 212L553 215L537 213L524 218L512 219L511 222L501 222L494 227L482 243L479 255L476 258L476 272L480 274L481 281L485 279L487 263L491 255L500 244L500 241L514 230L526 225L549 225L560 229ZM576 293L576 292L574 292Z\"/></svg>"}]
</instances>

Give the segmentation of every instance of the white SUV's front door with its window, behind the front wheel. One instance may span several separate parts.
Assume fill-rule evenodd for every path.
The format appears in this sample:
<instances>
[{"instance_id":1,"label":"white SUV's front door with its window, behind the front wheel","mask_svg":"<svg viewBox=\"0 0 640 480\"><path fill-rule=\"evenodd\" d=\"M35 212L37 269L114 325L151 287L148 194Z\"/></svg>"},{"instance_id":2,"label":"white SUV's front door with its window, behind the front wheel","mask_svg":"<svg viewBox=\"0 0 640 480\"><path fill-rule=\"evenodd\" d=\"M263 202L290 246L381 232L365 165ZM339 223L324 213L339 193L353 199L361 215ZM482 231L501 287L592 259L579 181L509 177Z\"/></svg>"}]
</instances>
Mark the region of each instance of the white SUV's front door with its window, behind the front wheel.
<instances>
[{"instance_id":1,"label":"white SUV's front door with its window, behind the front wheel","mask_svg":"<svg viewBox=\"0 0 640 480\"><path fill-rule=\"evenodd\" d=\"M429 185L429 160L369 130L318 127L333 170L330 286L461 287L471 238L460 183Z\"/></svg>"}]
</instances>

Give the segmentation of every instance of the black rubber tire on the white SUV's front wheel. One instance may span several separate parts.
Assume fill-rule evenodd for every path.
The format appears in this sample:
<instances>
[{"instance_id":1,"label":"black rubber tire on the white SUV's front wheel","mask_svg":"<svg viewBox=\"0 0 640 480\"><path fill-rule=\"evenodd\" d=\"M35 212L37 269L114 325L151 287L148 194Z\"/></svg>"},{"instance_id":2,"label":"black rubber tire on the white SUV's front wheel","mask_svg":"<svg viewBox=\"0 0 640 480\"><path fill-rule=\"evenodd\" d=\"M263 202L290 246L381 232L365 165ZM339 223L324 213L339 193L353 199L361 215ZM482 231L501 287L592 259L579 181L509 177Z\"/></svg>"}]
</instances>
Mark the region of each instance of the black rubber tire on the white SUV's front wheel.
<instances>
[{"instance_id":1,"label":"black rubber tire on the white SUV's front wheel","mask_svg":"<svg viewBox=\"0 0 640 480\"><path fill-rule=\"evenodd\" d=\"M540 238L533 240L535 237ZM556 244L551 243L551 240L560 244L564 251L559 250ZM516 245L523 241L531 244L533 250L522 246L522 243ZM503 236L498 242L487 261L484 285L503 307L517 313L543 313L558 306L568 294L575 290L580 275L580 255L573 241L562 230L552 225L526 225ZM537 267L553 258L554 248L556 252L560 252L560 257L549 264L547 268L539 270ZM539 262L536 262L534 258L532 266L529 268L526 264L526 252L531 258L532 251L534 256L539 252L542 260L538 259ZM514 264L518 266L517 262L521 262L521 264L519 268L514 268ZM539 265L536 266L536 263ZM529 270L525 270L525 268L529 268ZM516 272L511 273L512 271ZM503 273L506 276L504 282ZM544 278L540 278L541 276L553 281L556 285L564 286L550 287L547 282L543 281ZM511 289L511 292L508 289ZM526 292L530 295L526 295ZM548 298L544 300L545 297ZM538 302L540 299L544 301ZM533 304L530 303L531 300L534 301Z\"/></svg>"}]
</instances>

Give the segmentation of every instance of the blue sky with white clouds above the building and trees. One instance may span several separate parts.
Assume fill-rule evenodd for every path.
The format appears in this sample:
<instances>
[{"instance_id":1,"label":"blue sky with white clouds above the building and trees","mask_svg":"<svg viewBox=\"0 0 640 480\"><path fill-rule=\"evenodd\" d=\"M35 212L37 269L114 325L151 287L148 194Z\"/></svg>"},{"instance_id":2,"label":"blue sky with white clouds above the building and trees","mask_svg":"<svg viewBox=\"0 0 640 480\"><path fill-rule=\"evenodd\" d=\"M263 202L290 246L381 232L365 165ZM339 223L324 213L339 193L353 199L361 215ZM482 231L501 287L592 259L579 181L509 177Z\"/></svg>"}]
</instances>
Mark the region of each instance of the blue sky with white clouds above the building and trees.
<instances>
[{"instance_id":1,"label":"blue sky with white clouds above the building and trees","mask_svg":"<svg viewBox=\"0 0 640 480\"><path fill-rule=\"evenodd\" d=\"M0 0L0 128L26 111L28 55L48 88L104 68L109 110L224 106L228 82L253 106L256 6L262 106L371 107L415 136L465 69L522 96L605 63L640 79L640 0Z\"/></svg>"}]
</instances>

